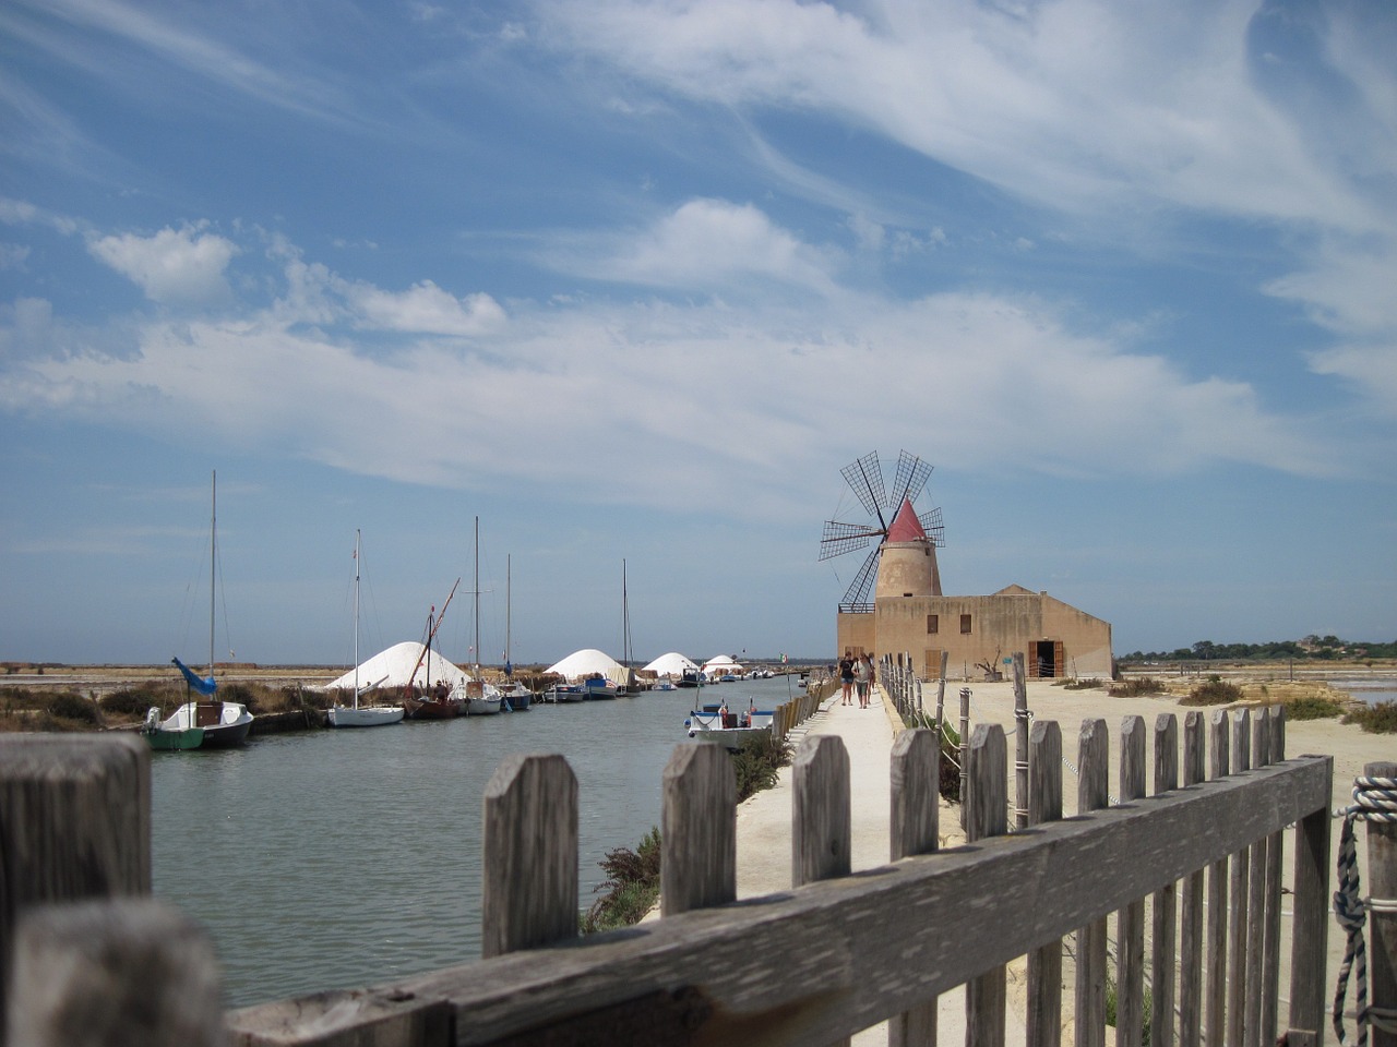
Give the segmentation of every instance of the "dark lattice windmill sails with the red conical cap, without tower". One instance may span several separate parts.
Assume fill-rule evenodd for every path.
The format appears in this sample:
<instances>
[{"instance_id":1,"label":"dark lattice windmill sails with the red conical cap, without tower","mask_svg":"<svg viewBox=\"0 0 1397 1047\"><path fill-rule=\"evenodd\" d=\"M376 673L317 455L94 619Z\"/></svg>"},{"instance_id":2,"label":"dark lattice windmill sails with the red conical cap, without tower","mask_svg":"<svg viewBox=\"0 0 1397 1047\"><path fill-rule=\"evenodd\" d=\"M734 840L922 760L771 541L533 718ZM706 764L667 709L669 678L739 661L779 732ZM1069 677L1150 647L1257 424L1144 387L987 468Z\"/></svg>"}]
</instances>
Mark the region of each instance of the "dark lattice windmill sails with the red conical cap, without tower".
<instances>
[{"instance_id":1,"label":"dark lattice windmill sails with the red conical cap, without tower","mask_svg":"<svg viewBox=\"0 0 1397 1047\"><path fill-rule=\"evenodd\" d=\"M925 540L932 549L944 546L944 526L942 525L942 511L928 510L921 515L912 508L916 496L926 486L926 479L935 466L916 455L900 451L897 455L897 475L893 479L893 497L888 497L883 484L883 468L877 459L877 451L870 451L855 462L844 466L840 472L863 504L869 514L866 524L845 524L837 519L824 522L824 535L820 537L820 560L833 560L837 556L852 553L855 549L865 549L869 542L877 539L877 544L869 550L863 565L859 567L854 581L840 602L841 611L872 611L869 591L877 578L879 561L883 549L893 542ZM915 522L915 525L914 525ZM940 593L940 578L936 574L936 558L930 557L930 585Z\"/></svg>"}]
</instances>

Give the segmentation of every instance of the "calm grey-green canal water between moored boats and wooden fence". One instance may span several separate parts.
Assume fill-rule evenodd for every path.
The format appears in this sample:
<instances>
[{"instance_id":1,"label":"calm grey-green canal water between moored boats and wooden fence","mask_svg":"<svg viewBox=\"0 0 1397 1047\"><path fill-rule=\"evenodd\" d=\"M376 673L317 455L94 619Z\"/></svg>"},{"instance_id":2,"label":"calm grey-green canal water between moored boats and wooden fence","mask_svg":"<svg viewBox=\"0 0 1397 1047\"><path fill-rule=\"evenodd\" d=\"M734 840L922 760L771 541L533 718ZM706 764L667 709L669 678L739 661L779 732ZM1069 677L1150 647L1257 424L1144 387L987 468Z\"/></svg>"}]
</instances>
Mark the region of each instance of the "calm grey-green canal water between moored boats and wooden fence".
<instances>
[{"instance_id":1,"label":"calm grey-green canal water between moored boats and wooden fence","mask_svg":"<svg viewBox=\"0 0 1397 1047\"><path fill-rule=\"evenodd\" d=\"M792 678L789 687L793 687ZM785 678L705 688L733 708ZM229 1007L481 955L481 797L513 752L562 752L580 792L583 906L598 861L659 825L694 691L152 754L155 893L212 934Z\"/></svg>"}]
</instances>

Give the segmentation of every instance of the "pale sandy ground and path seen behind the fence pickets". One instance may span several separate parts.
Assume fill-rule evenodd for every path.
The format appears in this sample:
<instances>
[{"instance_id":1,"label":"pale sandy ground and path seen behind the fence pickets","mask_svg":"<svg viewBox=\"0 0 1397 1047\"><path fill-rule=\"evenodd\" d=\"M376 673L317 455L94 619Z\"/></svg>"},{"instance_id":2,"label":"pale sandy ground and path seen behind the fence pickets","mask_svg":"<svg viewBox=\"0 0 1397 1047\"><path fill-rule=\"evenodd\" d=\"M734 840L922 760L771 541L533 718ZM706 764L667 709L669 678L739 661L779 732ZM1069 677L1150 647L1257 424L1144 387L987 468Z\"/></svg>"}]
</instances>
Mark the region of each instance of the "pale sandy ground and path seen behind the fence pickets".
<instances>
[{"instance_id":1,"label":"pale sandy ground and path seen behind the fence pickets","mask_svg":"<svg viewBox=\"0 0 1397 1047\"><path fill-rule=\"evenodd\" d=\"M958 692L965 684L947 684L947 718L954 723L958 718ZM999 723L1010 736L1010 766L1013 765L1014 695L1011 683L968 684L971 688L971 723ZM935 688L923 692L923 701L935 702ZM1173 713L1182 730L1183 718L1190 711L1175 697L1111 698L1101 690L1066 691L1051 681L1028 683L1028 708L1037 719L1055 719L1062 726L1063 754L1076 762L1077 732L1081 720L1102 718L1111 730L1111 792L1118 789L1118 737L1123 716L1143 716L1153 730L1160 713ZM1213 706L1235 708L1235 706ZM1211 709L1203 711L1206 715ZM827 699L806 725L793 734L799 744L805 734L838 734L849 754L852 785L852 868L854 871L875 868L888 861L888 811L890 811L890 754L900 725L890 702L879 692L872 708L858 705L844 706L838 695ZM1397 759L1397 737L1391 734L1365 734L1354 725L1343 725L1337 719L1302 720L1287 725L1287 755L1324 754L1334 758L1333 807L1351 803L1350 792L1354 779L1362 773L1363 765ZM1153 789L1153 782L1150 783ZM1065 768L1063 779L1065 814L1076 811L1074 776ZM1013 782L1010 782L1013 796ZM1333 828L1333 849L1338 849L1338 824ZM1362 832L1362 829L1359 829ZM960 832L958 808L943 804L940 818L942 846L953 847L964 842ZM1362 859L1363 842L1359 838L1359 867L1366 881L1366 867ZM1333 857L1330 875L1333 878ZM1291 854L1289 833L1284 857L1285 878L1289 879ZM781 772L774 789L757 793L738 808L738 896L753 898L791 886L791 769ZM1288 916L1285 917L1288 924ZM1284 928L1288 933L1288 928ZM1112 931L1113 935L1113 931ZM1324 998L1334 991L1334 979L1343 959L1344 941L1337 924L1330 924L1329 963L1324 983ZM1071 1041L1071 965L1065 962L1065 1036ZM1282 965L1282 1000L1289 984L1288 966ZM1350 1008L1352 1007L1350 987ZM1281 1015L1284 1019L1284 1004ZM940 1037L943 1043L957 1043L964 1039L964 1000L961 991L947 993L940 1000ZM1009 1018L1006 1036L1010 1044L1024 1041L1024 963L1010 965L1009 970ZM1350 1029L1352 1029L1350 1020ZM854 1037L858 1047L873 1047L887 1043L886 1023L866 1029Z\"/></svg>"}]
</instances>

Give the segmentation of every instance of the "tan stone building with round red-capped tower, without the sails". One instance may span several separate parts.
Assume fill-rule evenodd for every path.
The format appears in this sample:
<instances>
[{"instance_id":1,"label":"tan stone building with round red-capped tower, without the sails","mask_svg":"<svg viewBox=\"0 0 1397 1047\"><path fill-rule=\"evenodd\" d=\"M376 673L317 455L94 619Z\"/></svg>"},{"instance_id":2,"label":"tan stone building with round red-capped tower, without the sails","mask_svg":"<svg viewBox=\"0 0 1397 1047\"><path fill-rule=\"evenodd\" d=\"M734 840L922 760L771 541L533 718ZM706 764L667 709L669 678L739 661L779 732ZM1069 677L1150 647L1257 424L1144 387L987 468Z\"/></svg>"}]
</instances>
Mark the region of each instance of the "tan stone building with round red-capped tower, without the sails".
<instances>
[{"instance_id":1,"label":"tan stone building with round red-capped tower, without the sails","mask_svg":"<svg viewBox=\"0 0 1397 1047\"><path fill-rule=\"evenodd\" d=\"M841 604L838 652L911 658L923 680L983 680L1023 652L1030 677L1109 677L1111 623L1010 585L988 596L946 596L936 546L904 500L882 543L873 604Z\"/></svg>"}]
</instances>

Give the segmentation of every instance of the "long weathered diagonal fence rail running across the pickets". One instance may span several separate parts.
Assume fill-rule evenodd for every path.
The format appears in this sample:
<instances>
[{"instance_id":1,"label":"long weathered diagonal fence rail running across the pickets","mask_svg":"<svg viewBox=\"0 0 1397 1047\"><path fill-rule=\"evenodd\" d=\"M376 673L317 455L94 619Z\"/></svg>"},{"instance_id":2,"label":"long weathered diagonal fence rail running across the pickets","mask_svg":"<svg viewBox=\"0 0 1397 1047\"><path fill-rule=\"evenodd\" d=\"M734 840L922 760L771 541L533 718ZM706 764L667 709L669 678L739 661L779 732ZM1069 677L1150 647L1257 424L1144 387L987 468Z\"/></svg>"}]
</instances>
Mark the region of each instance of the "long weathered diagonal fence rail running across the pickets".
<instances>
[{"instance_id":1,"label":"long weathered diagonal fence rail running across the pickets","mask_svg":"<svg viewBox=\"0 0 1397 1047\"><path fill-rule=\"evenodd\" d=\"M696 1044L827 1043L1045 945L1243 840L1310 811L1327 819L1331 773L1327 757L1294 759L1248 780L1208 782L1133 810L1098 810L584 942L358 994L235 1011L229 1027L237 1044L349 1047L363 1043L356 1030L365 1015L444 1001L467 1047L687 993L707 1008L687 1012ZM1016 884L1034 905L1002 905L986 884Z\"/></svg>"}]
</instances>

